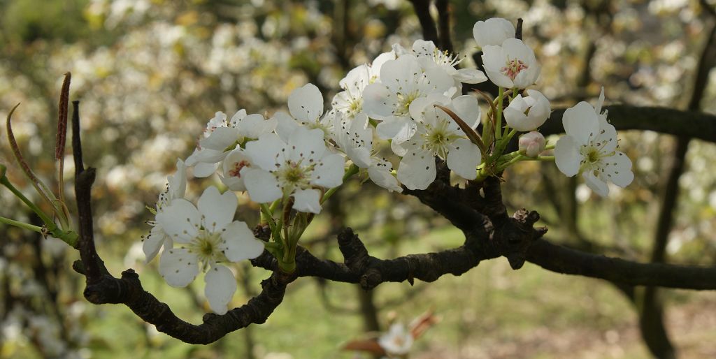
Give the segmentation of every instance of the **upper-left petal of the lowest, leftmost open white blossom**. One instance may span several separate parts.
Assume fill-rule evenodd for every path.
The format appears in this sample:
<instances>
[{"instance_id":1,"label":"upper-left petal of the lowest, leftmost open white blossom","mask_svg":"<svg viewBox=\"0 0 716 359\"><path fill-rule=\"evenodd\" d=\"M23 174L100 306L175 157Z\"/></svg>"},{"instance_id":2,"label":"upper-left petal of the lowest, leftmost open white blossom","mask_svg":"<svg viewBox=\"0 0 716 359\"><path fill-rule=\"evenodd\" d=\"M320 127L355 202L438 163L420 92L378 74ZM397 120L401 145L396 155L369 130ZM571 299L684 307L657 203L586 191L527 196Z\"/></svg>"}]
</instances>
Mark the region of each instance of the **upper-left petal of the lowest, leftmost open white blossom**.
<instances>
[{"instance_id":1,"label":"upper-left petal of the lowest, leftmost open white blossom","mask_svg":"<svg viewBox=\"0 0 716 359\"><path fill-rule=\"evenodd\" d=\"M172 240L188 243L198 233L201 214L191 202L178 198L157 213L157 223Z\"/></svg>"}]
</instances>

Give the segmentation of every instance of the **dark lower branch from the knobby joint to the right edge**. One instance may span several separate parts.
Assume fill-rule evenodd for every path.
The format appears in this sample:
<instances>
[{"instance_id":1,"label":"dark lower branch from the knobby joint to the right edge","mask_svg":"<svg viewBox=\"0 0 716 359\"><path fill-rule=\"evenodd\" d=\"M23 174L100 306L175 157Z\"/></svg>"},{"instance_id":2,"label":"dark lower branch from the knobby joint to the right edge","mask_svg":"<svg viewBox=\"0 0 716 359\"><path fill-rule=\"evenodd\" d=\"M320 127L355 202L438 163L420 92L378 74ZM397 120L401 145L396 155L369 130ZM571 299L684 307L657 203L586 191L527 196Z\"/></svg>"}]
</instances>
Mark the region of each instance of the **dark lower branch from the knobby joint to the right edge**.
<instances>
[{"instance_id":1,"label":"dark lower branch from the knobby joint to the right edge","mask_svg":"<svg viewBox=\"0 0 716 359\"><path fill-rule=\"evenodd\" d=\"M571 250L546 240L537 240L531 245L527 260L553 272L583 275L627 285L716 290L716 267L631 262Z\"/></svg>"}]
</instances>

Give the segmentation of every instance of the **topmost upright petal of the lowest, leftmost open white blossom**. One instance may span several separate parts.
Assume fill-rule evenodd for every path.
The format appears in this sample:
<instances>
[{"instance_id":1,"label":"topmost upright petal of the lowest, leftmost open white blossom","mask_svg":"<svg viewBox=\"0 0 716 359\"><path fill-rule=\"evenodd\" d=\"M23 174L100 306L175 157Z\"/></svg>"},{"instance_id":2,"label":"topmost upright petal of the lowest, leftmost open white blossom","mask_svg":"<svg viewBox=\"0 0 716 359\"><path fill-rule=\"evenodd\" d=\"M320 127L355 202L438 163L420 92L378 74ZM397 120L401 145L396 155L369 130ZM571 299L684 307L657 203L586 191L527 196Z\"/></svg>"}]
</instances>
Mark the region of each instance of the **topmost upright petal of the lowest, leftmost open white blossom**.
<instances>
[{"instance_id":1,"label":"topmost upright petal of the lowest, leftmost open white blossom","mask_svg":"<svg viewBox=\"0 0 716 359\"><path fill-rule=\"evenodd\" d=\"M204 229L209 232L218 232L226 227L236 214L236 195L226 191L223 195L214 187L207 187L199 197L198 209L204 216Z\"/></svg>"}]
</instances>

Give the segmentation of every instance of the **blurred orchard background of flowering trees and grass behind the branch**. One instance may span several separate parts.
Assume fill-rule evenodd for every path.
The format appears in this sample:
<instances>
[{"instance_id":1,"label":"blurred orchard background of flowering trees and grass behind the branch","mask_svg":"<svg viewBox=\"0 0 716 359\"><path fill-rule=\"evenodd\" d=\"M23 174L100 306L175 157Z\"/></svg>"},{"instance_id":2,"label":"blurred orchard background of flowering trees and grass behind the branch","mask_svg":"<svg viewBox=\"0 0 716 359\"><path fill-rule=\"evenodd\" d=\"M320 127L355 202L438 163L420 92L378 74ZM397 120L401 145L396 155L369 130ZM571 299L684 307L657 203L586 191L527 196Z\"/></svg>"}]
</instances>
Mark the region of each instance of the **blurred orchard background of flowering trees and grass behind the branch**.
<instances>
[{"instance_id":1,"label":"blurred orchard background of flowering trees and grass behind the branch","mask_svg":"<svg viewBox=\"0 0 716 359\"><path fill-rule=\"evenodd\" d=\"M715 112L712 8L707 0L455 0L450 16L455 51L468 56L464 65L473 61L475 21L521 17L553 107L594 99L604 86L614 102ZM135 268L147 290L197 323L202 288L163 285L140 243L149 231L145 206L155 202L175 159L193 149L194 134L216 111L273 113L306 82L329 100L349 69L391 44L410 46L422 30L413 4L401 0L0 1L0 116L21 102L19 144L35 172L49 176L62 74L72 72L85 162L100 174L93 191L100 254L111 272ZM505 203L514 206L510 212L538 210L551 239L570 247L640 262L714 265L713 144L631 132L620 146L635 159L636 179L626 190L612 189L609 200L556 176L551 164L533 163L505 174ZM0 151L8 175L19 176L5 142ZM71 179L71 165L66 172ZM190 186L188 197L200 188ZM8 192L0 191L0 200L0 215L37 222L11 210L19 206ZM417 199L370 183L345 186L330 203L302 242L319 257L340 258L334 238L346 226L385 258L463 240ZM77 255L62 242L6 226L0 239L0 358L352 358L344 343L387 330L389 318L407 322L430 309L442 323L415 343L411 358L716 356L713 292L629 287L534 265L512 272L501 259L429 285L364 291L299 281L265 325L188 345L126 308L87 303L82 277L70 270ZM265 272L249 265L241 271L235 305L260 290Z\"/></svg>"}]
</instances>

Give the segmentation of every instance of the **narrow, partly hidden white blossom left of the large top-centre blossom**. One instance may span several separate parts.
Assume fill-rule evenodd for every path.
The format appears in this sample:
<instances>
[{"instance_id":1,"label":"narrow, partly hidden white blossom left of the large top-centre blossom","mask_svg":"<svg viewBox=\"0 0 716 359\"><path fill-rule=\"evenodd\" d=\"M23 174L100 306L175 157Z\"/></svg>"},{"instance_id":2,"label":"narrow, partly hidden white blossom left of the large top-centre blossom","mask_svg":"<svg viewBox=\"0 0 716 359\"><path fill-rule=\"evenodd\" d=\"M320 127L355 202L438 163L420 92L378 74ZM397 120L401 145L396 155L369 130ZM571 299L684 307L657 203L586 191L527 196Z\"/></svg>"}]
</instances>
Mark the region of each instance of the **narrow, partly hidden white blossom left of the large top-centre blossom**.
<instances>
[{"instance_id":1,"label":"narrow, partly hidden white blossom left of the large top-centre blossom","mask_svg":"<svg viewBox=\"0 0 716 359\"><path fill-rule=\"evenodd\" d=\"M333 97L332 106L337 112L353 118L363 110L363 89L378 80L380 69L388 60L395 59L395 52L380 54L370 65L362 64L348 72L339 82L342 92Z\"/></svg>"}]
</instances>

